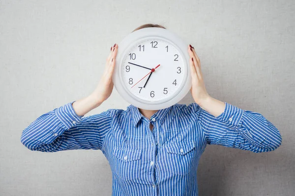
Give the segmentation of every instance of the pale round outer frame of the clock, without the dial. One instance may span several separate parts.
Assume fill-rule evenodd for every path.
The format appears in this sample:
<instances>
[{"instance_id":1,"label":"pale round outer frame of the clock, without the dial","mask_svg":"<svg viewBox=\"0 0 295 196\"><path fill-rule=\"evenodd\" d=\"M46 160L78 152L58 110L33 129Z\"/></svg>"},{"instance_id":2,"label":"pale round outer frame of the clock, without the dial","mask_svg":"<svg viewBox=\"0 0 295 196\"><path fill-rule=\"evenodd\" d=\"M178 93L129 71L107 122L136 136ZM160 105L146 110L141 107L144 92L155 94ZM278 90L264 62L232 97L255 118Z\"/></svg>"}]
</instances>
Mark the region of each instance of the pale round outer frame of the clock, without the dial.
<instances>
[{"instance_id":1,"label":"pale round outer frame of the clock, without the dial","mask_svg":"<svg viewBox=\"0 0 295 196\"><path fill-rule=\"evenodd\" d=\"M148 101L133 95L125 86L122 78L122 61L135 43L146 39L160 39L173 45L180 53L183 61L183 81L173 96L158 101ZM113 82L118 93L130 104L147 110L159 110L174 105L180 101L189 91L191 87L191 74L189 67L189 55L187 45L173 32L158 27L148 27L136 30L127 35L118 45L118 53L116 57L116 65L113 73Z\"/></svg>"}]
</instances>

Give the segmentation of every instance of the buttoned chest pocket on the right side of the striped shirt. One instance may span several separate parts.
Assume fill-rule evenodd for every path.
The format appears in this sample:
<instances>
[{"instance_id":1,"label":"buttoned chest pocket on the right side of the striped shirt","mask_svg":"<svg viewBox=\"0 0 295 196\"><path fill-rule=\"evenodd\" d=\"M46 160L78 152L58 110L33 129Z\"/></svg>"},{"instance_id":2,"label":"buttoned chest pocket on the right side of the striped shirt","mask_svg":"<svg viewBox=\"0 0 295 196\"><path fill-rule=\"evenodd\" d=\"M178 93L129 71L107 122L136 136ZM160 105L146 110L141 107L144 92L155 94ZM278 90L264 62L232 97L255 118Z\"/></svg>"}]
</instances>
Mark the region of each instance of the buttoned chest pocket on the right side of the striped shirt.
<instances>
[{"instance_id":1,"label":"buttoned chest pocket on the right side of the striped shirt","mask_svg":"<svg viewBox=\"0 0 295 196\"><path fill-rule=\"evenodd\" d=\"M186 175L192 170L195 141L181 141L165 146L167 168L173 174Z\"/></svg>"}]
</instances>

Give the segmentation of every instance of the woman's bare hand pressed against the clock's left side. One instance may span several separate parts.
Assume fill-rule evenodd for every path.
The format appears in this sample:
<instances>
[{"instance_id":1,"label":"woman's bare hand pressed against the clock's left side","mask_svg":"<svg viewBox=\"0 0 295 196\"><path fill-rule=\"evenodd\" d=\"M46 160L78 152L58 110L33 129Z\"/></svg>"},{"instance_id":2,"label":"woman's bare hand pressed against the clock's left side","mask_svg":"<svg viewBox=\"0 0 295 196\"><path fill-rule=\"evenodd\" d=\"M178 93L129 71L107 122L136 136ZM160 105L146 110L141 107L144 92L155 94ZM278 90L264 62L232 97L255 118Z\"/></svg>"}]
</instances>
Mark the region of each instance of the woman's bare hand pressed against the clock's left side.
<instances>
[{"instance_id":1,"label":"woman's bare hand pressed against the clock's left side","mask_svg":"<svg viewBox=\"0 0 295 196\"><path fill-rule=\"evenodd\" d=\"M93 96L95 100L97 101L97 105L100 105L112 94L113 87L114 87L112 75L114 73L117 52L118 52L118 44L115 44L113 47L111 47L111 52L107 58L104 73L96 89L91 94L91 96Z\"/></svg>"}]
</instances>

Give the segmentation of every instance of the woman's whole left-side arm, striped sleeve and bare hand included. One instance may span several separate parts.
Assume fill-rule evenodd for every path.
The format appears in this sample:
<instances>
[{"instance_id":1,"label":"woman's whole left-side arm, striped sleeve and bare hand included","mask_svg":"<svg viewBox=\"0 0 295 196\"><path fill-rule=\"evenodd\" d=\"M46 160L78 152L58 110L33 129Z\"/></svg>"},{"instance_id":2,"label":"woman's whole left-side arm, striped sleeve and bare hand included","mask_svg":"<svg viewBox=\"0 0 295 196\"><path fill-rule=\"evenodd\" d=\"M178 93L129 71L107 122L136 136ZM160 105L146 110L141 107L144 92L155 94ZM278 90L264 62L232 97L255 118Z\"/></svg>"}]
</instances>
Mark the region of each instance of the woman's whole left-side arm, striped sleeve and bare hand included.
<instances>
[{"instance_id":1,"label":"woman's whole left-side arm, striped sleeve and bare hand included","mask_svg":"<svg viewBox=\"0 0 295 196\"><path fill-rule=\"evenodd\" d=\"M30 150L56 152L70 149L102 149L110 131L109 111L82 118L110 97L118 45L112 47L96 89L86 98L43 114L23 130L21 142Z\"/></svg>"}]
</instances>

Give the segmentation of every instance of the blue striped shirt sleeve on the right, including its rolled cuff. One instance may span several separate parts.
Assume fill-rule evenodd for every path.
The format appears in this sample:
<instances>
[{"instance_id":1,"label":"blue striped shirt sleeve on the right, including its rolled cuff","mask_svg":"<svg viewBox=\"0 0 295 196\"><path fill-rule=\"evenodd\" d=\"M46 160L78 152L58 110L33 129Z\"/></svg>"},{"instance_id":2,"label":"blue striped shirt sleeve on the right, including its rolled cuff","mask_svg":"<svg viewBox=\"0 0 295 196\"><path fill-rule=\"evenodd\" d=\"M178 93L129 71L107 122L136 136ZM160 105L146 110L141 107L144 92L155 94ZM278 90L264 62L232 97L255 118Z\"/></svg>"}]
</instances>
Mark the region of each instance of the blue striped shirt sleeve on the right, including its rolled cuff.
<instances>
[{"instance_id":1,"label":"blue striped shirt sleeve on the right, including its rolled cuff","mask_svg":"<svg viewBox=\"0 0 295 196\"><path fill-rule=\"evenodd\" d=\"M224 103L225 110L218 117L199 108L199 121L204 129L207 144L256 153L272 151L281 145L280 132L263 115Z\"/></svg>"}]
</instances>

